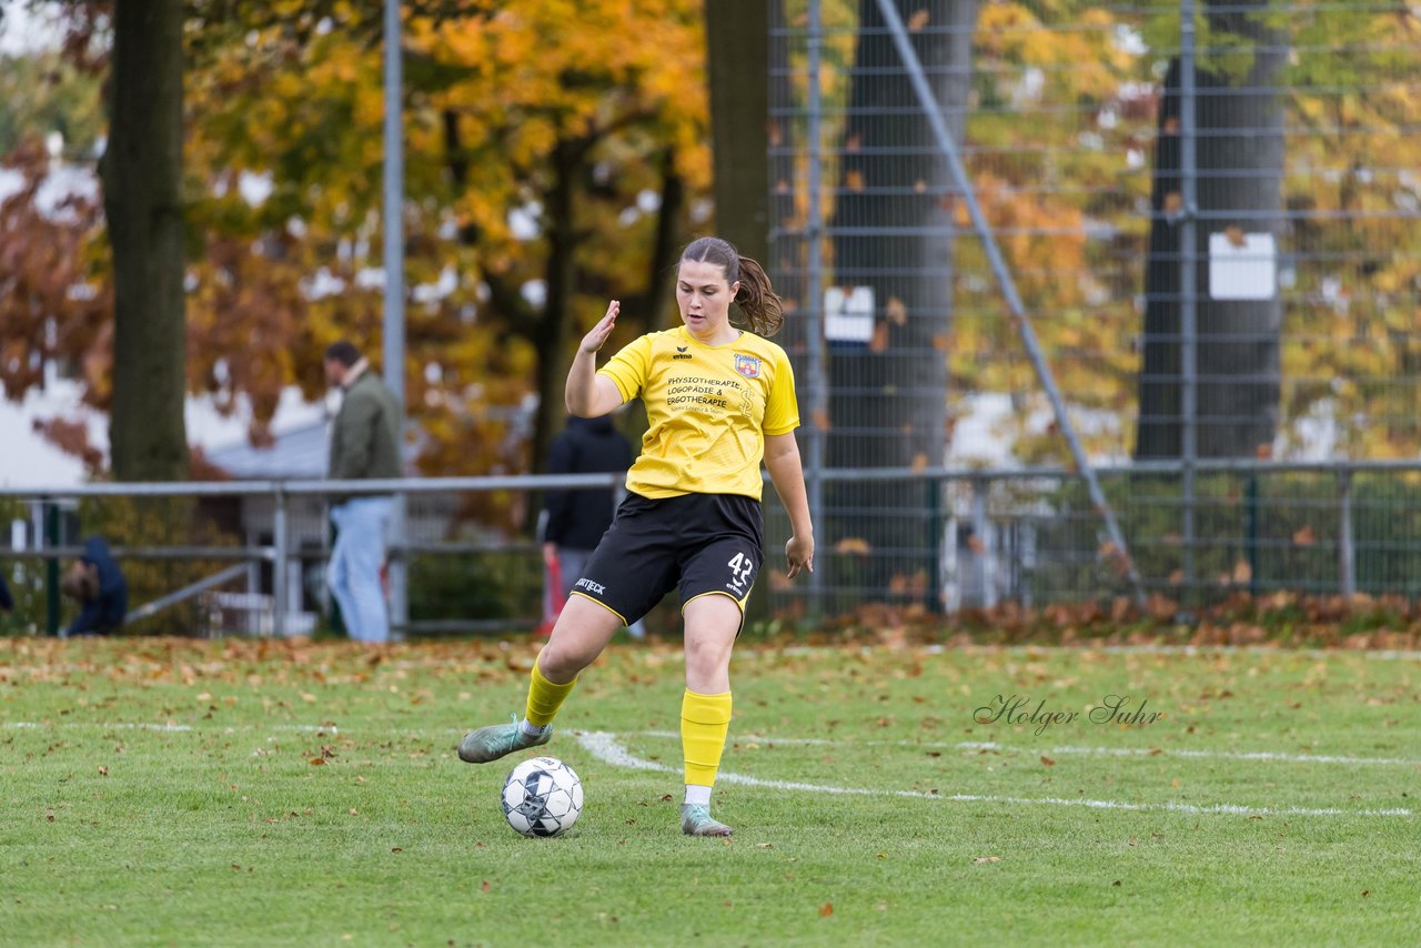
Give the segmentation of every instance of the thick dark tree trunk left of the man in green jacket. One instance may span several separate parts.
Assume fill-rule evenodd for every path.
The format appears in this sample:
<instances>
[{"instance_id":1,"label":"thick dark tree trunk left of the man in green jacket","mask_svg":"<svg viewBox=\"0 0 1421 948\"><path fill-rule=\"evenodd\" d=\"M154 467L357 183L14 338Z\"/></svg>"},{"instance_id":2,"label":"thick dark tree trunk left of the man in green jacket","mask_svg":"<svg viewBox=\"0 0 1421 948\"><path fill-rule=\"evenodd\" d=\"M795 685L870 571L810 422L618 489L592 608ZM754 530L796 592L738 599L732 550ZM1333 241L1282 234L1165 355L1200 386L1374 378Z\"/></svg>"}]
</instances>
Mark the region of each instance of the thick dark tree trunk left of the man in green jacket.
<instances>
[{"instance_id":1,"label":"thick dark tree trunk left of the man in green jacket","mask_svg":"<svg viewBox=\"0 0 1421 948\"><path fill-rule=\"evenodd\" d=\"M119 480L188 476L183 318L180 0L118 0L109 138L99 165L114 249L114 398Z\"/></svg>"}]
</instances>

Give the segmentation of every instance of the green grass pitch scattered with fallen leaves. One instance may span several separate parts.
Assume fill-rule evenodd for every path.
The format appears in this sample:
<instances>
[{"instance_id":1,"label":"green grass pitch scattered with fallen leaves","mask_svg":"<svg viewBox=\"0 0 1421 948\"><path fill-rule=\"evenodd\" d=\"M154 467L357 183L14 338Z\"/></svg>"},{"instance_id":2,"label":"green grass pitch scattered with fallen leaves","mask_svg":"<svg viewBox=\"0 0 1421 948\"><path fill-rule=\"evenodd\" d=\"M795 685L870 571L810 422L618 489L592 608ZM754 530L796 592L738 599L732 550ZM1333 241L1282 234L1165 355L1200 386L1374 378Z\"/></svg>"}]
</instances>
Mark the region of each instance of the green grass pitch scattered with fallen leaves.
<instances>
[{"instance_id":1,"label":"green grass pitch scattered with fallen leaves","mask_svg":"<svg viewBox=\"0 0 1421 948\"><path fill-rule=\"evenodd\" d=\"M527 840L453 749L534 648L0 641L0 942L1421 941L1417 657L746 641L725 841L676 826L679 650L615 647Z\"/></svg>"}]
</instances>

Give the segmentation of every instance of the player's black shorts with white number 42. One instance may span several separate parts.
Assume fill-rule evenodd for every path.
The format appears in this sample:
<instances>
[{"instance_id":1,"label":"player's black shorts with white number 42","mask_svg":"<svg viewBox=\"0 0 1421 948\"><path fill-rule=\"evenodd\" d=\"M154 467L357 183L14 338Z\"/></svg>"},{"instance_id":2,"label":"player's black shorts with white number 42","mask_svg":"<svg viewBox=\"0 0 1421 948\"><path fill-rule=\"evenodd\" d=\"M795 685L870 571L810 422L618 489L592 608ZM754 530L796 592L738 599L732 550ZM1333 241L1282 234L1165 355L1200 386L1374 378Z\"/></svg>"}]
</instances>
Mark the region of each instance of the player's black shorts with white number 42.
<instances>
[{"instance_id":1,"label":"player's black shorts with white number 42","mask_svg":"<svg viewBox=\"0 0 1421 948\"><path fill-rule=\"evenodd\" d=\"M764 519L760 502L729 493L685 493L649 500L627 495L573 593L601 603L627 624L671 590L681 608L722 593L745 611L760 571Z\"/></svg>"}]
</instances>

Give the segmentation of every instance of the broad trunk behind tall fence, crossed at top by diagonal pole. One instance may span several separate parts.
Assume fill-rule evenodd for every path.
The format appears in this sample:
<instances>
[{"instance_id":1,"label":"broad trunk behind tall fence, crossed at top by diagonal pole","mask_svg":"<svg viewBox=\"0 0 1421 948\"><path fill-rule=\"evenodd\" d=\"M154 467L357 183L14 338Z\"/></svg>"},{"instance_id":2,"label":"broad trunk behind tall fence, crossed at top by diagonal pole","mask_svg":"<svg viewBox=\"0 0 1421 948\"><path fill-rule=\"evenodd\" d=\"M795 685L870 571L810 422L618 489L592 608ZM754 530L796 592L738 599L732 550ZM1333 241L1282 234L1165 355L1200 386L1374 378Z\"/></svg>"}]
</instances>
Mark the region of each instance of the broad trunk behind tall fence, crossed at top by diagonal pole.
<instances>
[{"instance_id":1,"label":"broad trunk behind tall fence, crossed at top by diagonal pole","mask_svg":"<svg viewBox=\"0 0 1421 948\"><path fill-rule=\"evenodd\" d=\"M932 30L911 34L934 95L961 142L971 87L975 0L897 0L908 20L928 7ZM830 468L939 466L946 448L952 244L948 162L909 84L878 4L861 0L858 45L834 209L834 283L868 287L874 337L830 343ZM861 583L918 587L932 569L922 550L921 490L844 483L833 490L824 543L861 539L874 551ZM929 524L931 527L931 524ZM931 581L929 581L931 586Z\"/></svg>"}]
</instances>

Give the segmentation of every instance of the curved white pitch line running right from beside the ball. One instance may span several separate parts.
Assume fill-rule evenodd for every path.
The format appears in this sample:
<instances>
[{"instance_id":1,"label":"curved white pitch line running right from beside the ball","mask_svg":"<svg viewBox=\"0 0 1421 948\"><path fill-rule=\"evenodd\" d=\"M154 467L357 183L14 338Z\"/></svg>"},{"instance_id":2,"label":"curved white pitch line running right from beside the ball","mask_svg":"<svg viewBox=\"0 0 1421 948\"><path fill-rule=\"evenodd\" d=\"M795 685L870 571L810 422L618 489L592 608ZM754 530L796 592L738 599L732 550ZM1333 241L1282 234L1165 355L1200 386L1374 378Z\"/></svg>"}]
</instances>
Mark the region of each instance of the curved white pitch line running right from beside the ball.
<instances>
[{"instance_id":1,"label":"curved white pitch line running right from beside the ball","mask_svg":"<svg viewBox=\"0 0 1421 948\"><path fill-rule=\"evenodd\" d=\"M577 742L603 763L614 767L632 770L655 770L658 773L681 773L681 767L674 767L655 760L645 760L635 756L617 740L615 733L607 731L583 731L577 733ZM1304 806L1238 806L1232 803L1215 803L1214 806L1195 806L1192 803L1124 803L1121 800L1088 800L1064 797L1013 797L980 793L924 793L919 790L870 790L867 787L840 787L820 783L799 783L791 780L764 780L746 776L743 773L720 772L719 782L739 783L742 786L769 787L773 790L806 790L809 793L833 793L843 796L905 796L918 800L953 800L958 803L1007 803L1012 806L1083 806L1096 810L1131 810L1140 813L1168 812L1168 813L1222 813L1232 816L1415 816L1408 809L1388 810L1340 810L1336 807L1304 807Z\"/></svg>"}]
</instances>

